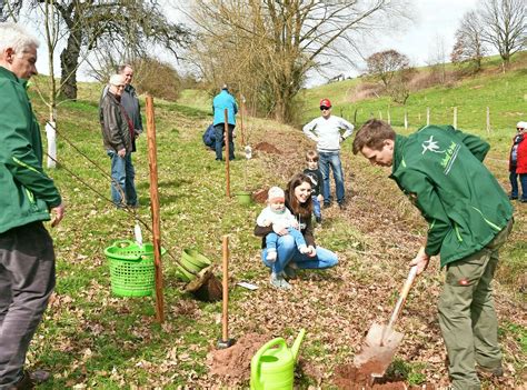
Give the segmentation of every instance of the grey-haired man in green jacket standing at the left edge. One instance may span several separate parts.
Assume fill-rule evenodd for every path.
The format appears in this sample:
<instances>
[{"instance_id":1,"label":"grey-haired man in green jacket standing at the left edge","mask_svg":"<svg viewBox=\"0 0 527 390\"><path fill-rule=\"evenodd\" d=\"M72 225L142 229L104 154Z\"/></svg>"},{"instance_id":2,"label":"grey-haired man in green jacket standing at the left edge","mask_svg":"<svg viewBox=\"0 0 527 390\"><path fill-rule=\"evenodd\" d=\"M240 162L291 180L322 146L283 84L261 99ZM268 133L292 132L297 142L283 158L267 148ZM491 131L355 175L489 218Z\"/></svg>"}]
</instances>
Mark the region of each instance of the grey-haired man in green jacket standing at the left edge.
<instances>
[{"instance_id":1,"label":"grey-haired man in green jacket standing at the left edge","mask_svg":"<svg viewBox=\"0 0 527 390\"><path fill-rule=\"evenodd\" d=\"M31 387L23 363L54 287L54 252L42 224L64 207L42 169L42 142L26 92L38 41L0 23L0 389Z\"/></svg>"}]
</instances>

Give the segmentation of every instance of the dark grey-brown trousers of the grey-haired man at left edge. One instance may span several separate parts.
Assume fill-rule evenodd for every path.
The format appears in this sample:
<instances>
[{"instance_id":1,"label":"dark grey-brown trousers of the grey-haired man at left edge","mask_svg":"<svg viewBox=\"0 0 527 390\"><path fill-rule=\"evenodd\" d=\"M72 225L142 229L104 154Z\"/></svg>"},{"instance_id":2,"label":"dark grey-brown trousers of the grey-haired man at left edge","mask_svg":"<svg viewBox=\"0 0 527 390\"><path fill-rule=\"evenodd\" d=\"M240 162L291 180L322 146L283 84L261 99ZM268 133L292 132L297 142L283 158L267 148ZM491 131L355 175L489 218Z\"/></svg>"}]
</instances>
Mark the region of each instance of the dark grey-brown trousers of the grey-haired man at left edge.
<instances>
[{"instance_id":1,"label":"dark grey-brown trousers of the grey-haired man at left edge","mask_svg":"<svg viewBox=\"0 0 527 390\"><path fill-rule=\"evenodd\" d=\"M0 390L22 378L29 343L53 288L53 241L42 222L0 233Z\"/></svg>"}]
</instances>

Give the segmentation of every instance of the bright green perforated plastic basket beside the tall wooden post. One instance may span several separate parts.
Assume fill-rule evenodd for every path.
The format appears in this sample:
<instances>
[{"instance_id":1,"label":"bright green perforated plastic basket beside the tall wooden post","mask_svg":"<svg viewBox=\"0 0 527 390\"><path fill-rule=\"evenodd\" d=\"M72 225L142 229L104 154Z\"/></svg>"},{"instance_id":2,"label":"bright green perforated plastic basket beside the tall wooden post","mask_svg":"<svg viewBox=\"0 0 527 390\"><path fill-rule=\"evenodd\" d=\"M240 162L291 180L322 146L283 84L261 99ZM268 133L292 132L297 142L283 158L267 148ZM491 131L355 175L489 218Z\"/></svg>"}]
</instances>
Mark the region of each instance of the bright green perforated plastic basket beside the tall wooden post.
<instances>
[{"instance_id":1,"label":"bright green perforated plastic basket beside the tall wooden post","mask_svg":"<svg viewBox=\"0 0 527 390\"><path fill-rule=\"evenodd\" d=\"M167 251L161 248L161 256ZM139 247L130 240L119 240L105 249L110 263L111 291L119 297L146 297L153 293L153 246Z\"/></svg>"}]
</instances>

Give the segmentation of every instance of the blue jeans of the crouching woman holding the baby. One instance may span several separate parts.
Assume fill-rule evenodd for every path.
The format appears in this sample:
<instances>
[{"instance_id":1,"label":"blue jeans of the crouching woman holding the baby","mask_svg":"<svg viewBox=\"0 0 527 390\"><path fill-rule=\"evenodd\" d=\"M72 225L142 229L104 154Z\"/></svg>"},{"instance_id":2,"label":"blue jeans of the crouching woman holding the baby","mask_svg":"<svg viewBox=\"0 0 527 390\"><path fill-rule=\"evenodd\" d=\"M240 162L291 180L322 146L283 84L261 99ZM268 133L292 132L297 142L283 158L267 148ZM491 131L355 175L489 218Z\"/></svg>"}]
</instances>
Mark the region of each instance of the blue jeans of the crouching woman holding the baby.
<instances>
[{"instance_id":1,"label":"blue jeans of the crouching woman holding the baby","mask_svg":"<svg viewBox=\"0 0 527 390\"><path fill-rule=\"evenodd\" d=\"M261 260L264 264L269 267L272 272L279 274L289 262L295 262L301 269L324 269L330 268L338 263L337 254L328 249L317 247L317 254L310 258L298 251L295 239L291 234L279 236L277 240L277 260L268 261L267 249L261 251Z\"/></svg>"}]
</instances>

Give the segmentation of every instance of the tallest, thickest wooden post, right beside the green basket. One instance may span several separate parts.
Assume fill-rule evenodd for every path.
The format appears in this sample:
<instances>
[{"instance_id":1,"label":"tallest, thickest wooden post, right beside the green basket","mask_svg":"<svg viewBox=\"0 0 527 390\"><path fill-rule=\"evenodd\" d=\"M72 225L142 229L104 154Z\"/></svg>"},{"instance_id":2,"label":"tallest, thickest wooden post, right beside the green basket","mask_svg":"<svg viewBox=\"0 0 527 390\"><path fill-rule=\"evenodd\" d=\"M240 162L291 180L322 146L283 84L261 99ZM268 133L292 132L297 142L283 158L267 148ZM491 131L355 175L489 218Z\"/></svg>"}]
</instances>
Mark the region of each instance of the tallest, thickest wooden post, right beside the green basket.
<instances>
[{"instance_id":1,"label":"tallest, thickest wooden post, right beside the green basket","mask_svg":"<svg viewBox=\"0 0 527 390\"><path fill-rule=\"evenodd\" d=\"M162 267L161 267L161 224L159 218L158 194L158 162L156 146L156 121L153 114L153 99L147 96L147 138L148 138L148 162L150 168L150 203L152 212L153 232L153 260L156 270L156 320L165 321L165 303L162 294Z\"/></svg>"}]
</instances>

